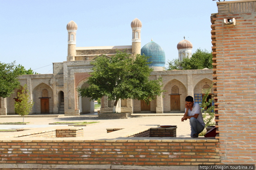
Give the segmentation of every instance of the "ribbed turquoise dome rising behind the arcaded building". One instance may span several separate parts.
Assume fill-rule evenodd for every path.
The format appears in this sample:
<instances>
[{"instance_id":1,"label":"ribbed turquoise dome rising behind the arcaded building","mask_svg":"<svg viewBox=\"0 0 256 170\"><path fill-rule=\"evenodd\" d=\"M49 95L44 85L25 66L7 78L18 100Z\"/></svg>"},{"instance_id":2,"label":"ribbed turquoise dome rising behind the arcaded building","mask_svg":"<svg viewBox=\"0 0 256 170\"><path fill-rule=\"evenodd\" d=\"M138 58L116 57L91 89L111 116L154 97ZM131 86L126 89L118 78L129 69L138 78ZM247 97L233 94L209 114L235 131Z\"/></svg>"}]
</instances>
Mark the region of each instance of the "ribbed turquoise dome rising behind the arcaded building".
<instances>
[{"instance_id":1,"label":"ribbed turquoise dome rising behind the arcaded building","mask_svg":"<svg viewBox=\"0 0 256 170\"><path fill-rule=\"evenodd\" d=\"M165 53L161 46L156 44L154 41L149 42L145 46L141 48L141 55L145 54L146 56L151 56L148 59L148 62L152 62L148 64L148 66L155 67L164 67L165 66Z\"/></svg>"}]
</instances>

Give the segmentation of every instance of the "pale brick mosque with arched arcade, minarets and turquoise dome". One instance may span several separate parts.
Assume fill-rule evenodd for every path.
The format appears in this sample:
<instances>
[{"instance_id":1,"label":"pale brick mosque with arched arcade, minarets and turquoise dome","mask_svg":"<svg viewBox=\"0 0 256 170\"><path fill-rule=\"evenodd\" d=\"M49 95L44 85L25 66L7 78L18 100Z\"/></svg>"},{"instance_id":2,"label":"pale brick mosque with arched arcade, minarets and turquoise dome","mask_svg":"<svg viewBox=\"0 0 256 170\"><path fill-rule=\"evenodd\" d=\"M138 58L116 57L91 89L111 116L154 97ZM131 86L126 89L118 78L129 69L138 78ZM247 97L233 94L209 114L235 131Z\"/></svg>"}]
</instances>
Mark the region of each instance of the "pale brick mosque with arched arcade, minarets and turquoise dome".
<instances>
[{"instance_id":1,"label":"pale brick mosque with arched arcade, minarets and turquoise dome","mask_svg":"<svg viewBox=\"0 0 256 170\"><path fill-rule=\"evenodd\" d=\"M144 101L125 99L117 104L116 111L124 113L177 113L185 110L185 97L194 96L195 102L200 103L205 90L212 85L212 69L203 70L165 70L164 50L151 40L141 48L141 21L135 18L132 23L132 45L128 46L93 46L76 47L77 24L70 21L68 31L67 60L53 63L53 74L20 75L21 86L27 84L30 98L34 106L30 114L65 114L75 116L94 112L94 101L78 95L76 89L88 87L86 79L92 72L91 61L100 55L111 58L116 49L126 50L131 54L151 56L149 67L154 68L149 79L163 78L162 96L148 105ZM192 56L192 44L185 38L177 45L179 59ZM0 115L15 114L14 103L17 100L15 89L10 97L1 98ZM213 91L213 90L212 90ZM211 97L211 93L210 96ZM100 112L112 112L114 101L102 97Z\"/></svg>"}]
</instances>

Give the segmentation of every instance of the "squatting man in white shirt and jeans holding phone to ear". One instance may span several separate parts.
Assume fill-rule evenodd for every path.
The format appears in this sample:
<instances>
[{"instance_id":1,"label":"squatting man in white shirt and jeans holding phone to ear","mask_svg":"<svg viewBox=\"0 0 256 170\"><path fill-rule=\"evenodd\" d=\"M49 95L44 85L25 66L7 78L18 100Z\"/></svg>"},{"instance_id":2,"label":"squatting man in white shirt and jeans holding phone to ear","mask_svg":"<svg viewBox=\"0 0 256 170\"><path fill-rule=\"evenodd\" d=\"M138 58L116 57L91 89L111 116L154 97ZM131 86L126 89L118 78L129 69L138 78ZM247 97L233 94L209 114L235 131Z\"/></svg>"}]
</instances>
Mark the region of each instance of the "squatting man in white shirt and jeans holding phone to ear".
<instances>
[{"instance_id":1,"label":"squatting man in white shirt and jeans holding phone to ear","mask_svg":"<svg viewBox=\"0 0 256 170\"><path fill-rule=\"evenodd\" d=\"M190 136L192 138L197 138L198 134L201 133L205 127L201 107L199 104L194 103L194 99L192 96L187 96L185 101L185 113L184 116L181 118L181 122L189 119L189 124L191 127Z\"/></svg>"}]
</instances>

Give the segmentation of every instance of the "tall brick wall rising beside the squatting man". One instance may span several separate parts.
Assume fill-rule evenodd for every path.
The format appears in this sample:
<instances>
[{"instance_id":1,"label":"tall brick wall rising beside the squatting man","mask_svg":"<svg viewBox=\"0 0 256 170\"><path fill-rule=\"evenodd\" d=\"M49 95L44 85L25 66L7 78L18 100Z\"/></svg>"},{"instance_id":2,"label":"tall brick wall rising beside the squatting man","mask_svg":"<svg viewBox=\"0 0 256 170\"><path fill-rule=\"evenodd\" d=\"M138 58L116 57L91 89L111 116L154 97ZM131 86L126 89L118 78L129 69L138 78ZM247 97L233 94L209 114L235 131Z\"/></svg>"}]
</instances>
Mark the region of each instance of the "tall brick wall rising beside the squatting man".
<instances>
[{"instance_id":1,"label":"tall brick wall rising beside the squatting man","mask_svg":"<svg viewBox=\"0 0 256 170\"><path fill-rule=\"evenodd\" d=\"M218 2L212 15L216 127L222 163L256 163L256 1ZM224 19L236 19L225 25Z\"/></svg>"}]
</instances>

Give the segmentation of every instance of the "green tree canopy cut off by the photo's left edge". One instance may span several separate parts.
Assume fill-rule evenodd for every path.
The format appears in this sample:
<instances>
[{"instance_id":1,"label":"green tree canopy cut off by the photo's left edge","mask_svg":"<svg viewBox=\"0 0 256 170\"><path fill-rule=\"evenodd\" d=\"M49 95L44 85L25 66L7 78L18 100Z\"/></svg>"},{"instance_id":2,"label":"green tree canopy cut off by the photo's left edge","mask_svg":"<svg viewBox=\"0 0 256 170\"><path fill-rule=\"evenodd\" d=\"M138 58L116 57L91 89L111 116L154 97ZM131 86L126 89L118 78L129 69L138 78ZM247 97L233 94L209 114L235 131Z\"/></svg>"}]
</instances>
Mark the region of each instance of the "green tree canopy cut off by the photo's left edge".
<instances>
[{"instance_id":1,"label":"green tree canopy cut off by the photo's left edge","mask_svg":"<svg viewBox=\"0 0 256 170\"><path fill-rule=\"evenodd\" d=\"M15 61L9 64L0 62L0 97L9 97L20 85Z\"/></svg>"}]
</instances>

